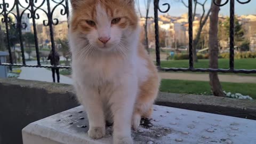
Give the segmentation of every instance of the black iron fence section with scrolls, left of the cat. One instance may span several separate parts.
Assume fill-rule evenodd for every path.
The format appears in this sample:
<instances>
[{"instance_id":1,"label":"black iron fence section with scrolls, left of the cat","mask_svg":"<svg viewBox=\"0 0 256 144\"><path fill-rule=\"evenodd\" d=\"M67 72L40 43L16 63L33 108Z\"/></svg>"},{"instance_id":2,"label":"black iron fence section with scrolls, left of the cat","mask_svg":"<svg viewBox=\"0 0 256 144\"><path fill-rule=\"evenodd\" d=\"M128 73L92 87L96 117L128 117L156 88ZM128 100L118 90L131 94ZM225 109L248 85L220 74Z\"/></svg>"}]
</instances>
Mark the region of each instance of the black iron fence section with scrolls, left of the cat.
<instances>
[{"instance_id":1,"label":"black iron fence section with scrolls, left of the cat","mask_svg":"<svg viewBox=\"0 0 256 144\"><path fill-rule=\"evenodd\" d=\"M36 23L36 20L40 20L40 15L38 14L38 11L42 11L47 16L47 20L43 20L42 23L44 26L49 26L50 29L50 37L51 37L51 45L52 45L52 51L53 54L55 54L55 42L54 42L54 30L53 26L58 25L59 19L53 18L53 13L57 10L57 8L60 9L61 15L67 15L67 18L69 17L69 10L68 10L68 0L42 0L41 2L37 0L23 0L24 2L20 2L20 0L14 0L14 4L10 4L10 2L6 2L6 0L2 0L3 4L0 4L0 15L3 16L2 22L5 23L5 31L6 31L6 41L7 41L7 48L9 50L9 58L10 63L0 63L0 65L5 66L25 66L25 67L41 67L40 62L40 53L39 53L39 45L38 45L38 37L37 37L37 28L38 25ZM50 1L53 2L55 5L51 8ZM12 5L12 6L10 6ZM43 6L47 6L47 11L43 9ZM16 13L13 13L14 9L16 9ZM2 11L1 11L2 10ZM27 15L25 15L27 13ZM13 55L11 50L11 41L10 41L10 33L9 33L9 22L10 22L10 14L12 14L15 18L15 23L13 24L13 27L15 29L18 29L19 33L19 41L20 41L20 47L21 47L21 57L22 57L22 65L13 63ZM37 59L37 66L29 66L26 65L25 60L25 49L23 45L23 36L22 36L22 29L27 28L27 23L22 23L21 19L22 17L28 17L32 20L33 23L33 31L34 31L34 39L35 39L35 49L36 49L36 59ZM42 66L42 67L49 67L49 66ZM52 66L52 67L60 67L62 66ZM63 67L67 68L67 67Z\"/></svg>"}]
</instances>

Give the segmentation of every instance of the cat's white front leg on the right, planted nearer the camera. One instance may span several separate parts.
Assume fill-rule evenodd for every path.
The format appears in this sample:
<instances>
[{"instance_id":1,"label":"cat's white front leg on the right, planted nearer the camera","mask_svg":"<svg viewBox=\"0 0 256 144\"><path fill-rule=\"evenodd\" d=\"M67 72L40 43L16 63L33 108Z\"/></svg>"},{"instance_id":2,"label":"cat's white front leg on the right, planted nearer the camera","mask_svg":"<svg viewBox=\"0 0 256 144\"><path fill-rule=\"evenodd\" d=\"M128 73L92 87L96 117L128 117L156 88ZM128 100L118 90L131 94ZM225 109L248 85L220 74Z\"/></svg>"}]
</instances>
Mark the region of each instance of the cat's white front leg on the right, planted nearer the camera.
<instances>
[{"instance_id":1,"label":"cat's white front leg on the right, planted nearer the camera","mask_svg":"<svg viewBox=\"0 0 256 144\"><path fill-rule=\"evenodd\" d=\"M111 96L111 111L114 115L114 144L132 144L131 118L137 95L135 78L127 79L126 83L118 86Z\"/></svg>"}]
</instances>

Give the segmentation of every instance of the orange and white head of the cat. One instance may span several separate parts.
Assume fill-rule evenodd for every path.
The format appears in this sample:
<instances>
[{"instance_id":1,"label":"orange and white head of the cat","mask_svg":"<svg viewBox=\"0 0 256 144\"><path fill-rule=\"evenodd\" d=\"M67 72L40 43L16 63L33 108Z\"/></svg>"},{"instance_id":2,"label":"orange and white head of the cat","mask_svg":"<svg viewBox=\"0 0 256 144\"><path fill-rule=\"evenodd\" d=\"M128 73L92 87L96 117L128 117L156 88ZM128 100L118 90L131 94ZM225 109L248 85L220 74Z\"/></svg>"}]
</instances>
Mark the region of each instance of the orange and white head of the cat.
<instances>
[{"instance_id":1,"label":"orange and white head of the cat","mask_svg":"<svg viewBox=\"0 0 256 144\"><path fill-rule=\"evenodd\" d=\"M71 32L100 50L123 45L137 29L134 0L71 0Z\"/></svg>"}]
</instances>

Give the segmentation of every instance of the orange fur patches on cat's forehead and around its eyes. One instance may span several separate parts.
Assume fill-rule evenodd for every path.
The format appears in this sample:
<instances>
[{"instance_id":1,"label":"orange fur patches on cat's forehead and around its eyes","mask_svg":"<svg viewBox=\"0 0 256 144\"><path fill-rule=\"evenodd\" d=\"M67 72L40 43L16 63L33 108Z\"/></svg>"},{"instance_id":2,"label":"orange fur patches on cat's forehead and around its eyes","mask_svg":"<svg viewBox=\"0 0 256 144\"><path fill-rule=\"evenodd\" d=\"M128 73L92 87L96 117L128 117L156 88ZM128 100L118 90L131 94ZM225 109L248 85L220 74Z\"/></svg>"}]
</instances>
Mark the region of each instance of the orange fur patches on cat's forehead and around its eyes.
<instances>
[{"instance_id":1,"label":"orange fur patches on cat's forehead and around its eyes","mask_svg":"<svg viewBox=\"0 0 256 144\"><path fill-rule=\"evenodd\" d=\"M86 34L89 33L92 28L95 28L86 25L85 20L97 21L95 18L95 13L96 6L98 4L101 4L101 6L107 11L107 14L110 18L123 18L121 22L118 23L119 27L125 28L126 26L130 26L133 29L137 28L138 17L135 13L133 5L121 3L119 0L77 0L74 3L76 6L73 10L73 20L71 21L71 25L73 26L72 29L74 31L83 31L83 33Z\"/></svg>"}]
</instances>

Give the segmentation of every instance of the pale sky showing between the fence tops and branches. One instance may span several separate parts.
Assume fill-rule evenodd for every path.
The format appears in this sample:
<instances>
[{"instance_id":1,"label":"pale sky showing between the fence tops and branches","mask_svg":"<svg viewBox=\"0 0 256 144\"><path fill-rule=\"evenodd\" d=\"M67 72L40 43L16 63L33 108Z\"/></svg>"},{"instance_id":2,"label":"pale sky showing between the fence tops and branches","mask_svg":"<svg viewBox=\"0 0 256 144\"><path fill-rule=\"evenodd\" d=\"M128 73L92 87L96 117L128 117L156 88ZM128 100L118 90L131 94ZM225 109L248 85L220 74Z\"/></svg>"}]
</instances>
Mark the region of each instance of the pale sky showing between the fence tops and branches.
<instances>
[{"instance_id":1,"label":"pale sky showing between the fence tops and branches","mask_svg":"<svg viewBox=\"0 0 256 144\"><path fill-rule=\"evenodd\" d=\"M35 1L35 0L34 0ZM35 5L39 5L43 2L43 0L37 0L38 2ZM59 2L59 1L64 1L64 0L54 0L55 2ZM86 1L86 0L83 0ZM146 9L145 9L145 0L139 0L140 1L140 10L142 15L145 15ZM162 6L162 4L164 3L169 3L171 6L171 9L169 10L169 14L172 16L181 16L184 13L188 12L188 8L186 6L184 6L181 2L181 0L160 0L159 3L159 7L164 11L167 9L167 6ZM187 2L187 0L184 0L185 2ZM199 2L203 2L205 0L198 0ZM228 1L228 0L222 0L222 3L224 1ZM248 1L248 0L240 0L242 2ZM10 3L10 5L12 6L14 3L14 0L5 0L5 2ZM207 0L206 5L205 5L205 9L209 10L210 9L210 0ZM0 0L0 3L3 3L3 0ZM20 0L20 3L22 5L28 5L25 0ZM65 2L63 2L63 4L65 4ZM50 5L54 6L56 5L53 0L50 0ZM154 7L153 7L153 0L151 0L151 5L150 5L150 10L149 10L149 15L151 17L154 16ZM256 0L252 0L249 4L239 4L238 2L236 2L235 0L235 14L238 15L247 15L247 14L256 14ZM42 6L42 8L44 10L47 10L46 7L46 1L45 4ZM60 16L60 9L62 9L62 6L58 6L57 10L55 10L53 17L59 17ZM196 13L202 13L202 7L198 6L198 9L196 11ZM41 11L38 10L38 14L40 15L41 19L37 20L36 22L42 23L42 19L46 19L46 14ZM163 14L161 12L158 13L159 15ZM226 4L225 6L220 7L220 14L222 15L229 15L229 3ZM61 18L59 18L60 21L62 20L66 20L66 16L62 16Z\"/></svg>"}]
</instances>

